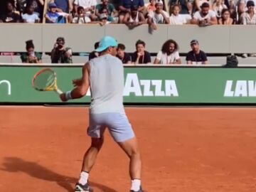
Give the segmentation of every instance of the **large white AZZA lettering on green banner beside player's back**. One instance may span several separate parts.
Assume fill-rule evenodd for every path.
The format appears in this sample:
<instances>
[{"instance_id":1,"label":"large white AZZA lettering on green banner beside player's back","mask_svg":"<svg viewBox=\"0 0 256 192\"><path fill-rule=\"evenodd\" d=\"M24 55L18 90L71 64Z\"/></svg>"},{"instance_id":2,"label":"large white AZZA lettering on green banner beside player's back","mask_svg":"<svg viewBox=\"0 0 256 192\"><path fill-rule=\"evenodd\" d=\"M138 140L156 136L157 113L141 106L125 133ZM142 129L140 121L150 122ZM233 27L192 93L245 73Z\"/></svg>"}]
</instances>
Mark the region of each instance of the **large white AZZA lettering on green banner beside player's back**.
<instances>
[{"instance_id":1,"label":"large white AZZA lettering on green banner beside player's back","mask_svg":"<svg viewBox=\"0 0 256 192\"><path fill-rule=\"evenodd\" d=\"M124 96L178 97L175 80L139 80L137 73L128 73L124 85Z\"/></svg>"}]
</instances>

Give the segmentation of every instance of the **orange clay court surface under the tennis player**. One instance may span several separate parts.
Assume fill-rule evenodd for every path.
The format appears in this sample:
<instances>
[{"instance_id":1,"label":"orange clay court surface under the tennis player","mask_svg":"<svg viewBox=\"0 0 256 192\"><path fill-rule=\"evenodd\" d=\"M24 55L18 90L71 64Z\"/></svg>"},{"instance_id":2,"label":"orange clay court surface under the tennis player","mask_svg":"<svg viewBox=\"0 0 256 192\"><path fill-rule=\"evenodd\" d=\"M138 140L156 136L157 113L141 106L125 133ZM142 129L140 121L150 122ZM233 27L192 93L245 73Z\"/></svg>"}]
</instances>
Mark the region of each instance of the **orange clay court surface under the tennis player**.
<instances>
[{"instance_id":1,"label":"orange clay court surface under the tennis player","mask_svg":"<svg viewBox=\"0 0 256 192\"><path fill-rule=\"evenodd\" d=\"M87 107L0 107L0 191L73 191L90 145ZM256 191L256 108L126 108L153 192ZM94 191L127 192L128 159L106 132Z\"/></svg>"}]
</instances>

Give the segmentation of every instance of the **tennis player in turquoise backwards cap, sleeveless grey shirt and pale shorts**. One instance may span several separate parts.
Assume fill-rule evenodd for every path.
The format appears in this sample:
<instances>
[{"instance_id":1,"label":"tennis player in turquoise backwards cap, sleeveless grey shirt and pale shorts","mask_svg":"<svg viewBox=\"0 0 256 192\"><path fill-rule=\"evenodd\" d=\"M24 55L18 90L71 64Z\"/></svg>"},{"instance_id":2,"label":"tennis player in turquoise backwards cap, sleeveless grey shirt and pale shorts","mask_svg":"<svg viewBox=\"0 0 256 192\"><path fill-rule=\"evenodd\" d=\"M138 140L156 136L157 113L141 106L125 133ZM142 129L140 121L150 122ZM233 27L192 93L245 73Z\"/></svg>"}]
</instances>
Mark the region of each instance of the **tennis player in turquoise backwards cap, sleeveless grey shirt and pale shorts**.
<instances>
[{"instance_id":1,"label":"tennis player in turquoise backwards cap, sleeveless grey shirt and pale shorts","mask_svg":"<svg viewBox=\"0 0 256 192\"><path fill-rule=\"evenodd\" d=\"M137 139L124 112L122 97L124 68L122 61L116 57L117 41L110 36L105 36L95 51L100 53L100 56L85 63L82 68L82 78L73 80L75 88L60 95L62 101L67 101L85 96L89 87L91 91L90 125L87 134L92 137L92 144L85 153L82 172L75 191L90 191L87 183L89 173L102 147L103 135L107 127L114 141L129 156L131 192L142 192L142 161Z\"/></svg>"}]
</instances>

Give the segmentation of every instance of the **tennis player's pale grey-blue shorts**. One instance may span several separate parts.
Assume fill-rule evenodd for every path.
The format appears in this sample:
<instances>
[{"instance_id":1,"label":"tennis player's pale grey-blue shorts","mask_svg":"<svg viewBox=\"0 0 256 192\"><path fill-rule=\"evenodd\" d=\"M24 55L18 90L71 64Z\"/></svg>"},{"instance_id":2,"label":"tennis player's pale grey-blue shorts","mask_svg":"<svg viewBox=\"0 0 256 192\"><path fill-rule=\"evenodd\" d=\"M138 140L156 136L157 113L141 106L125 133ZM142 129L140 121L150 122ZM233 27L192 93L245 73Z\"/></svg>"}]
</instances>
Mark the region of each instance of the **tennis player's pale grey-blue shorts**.
<instances>
[{"instance_id":1,"label":"tennis player's pale grey-blue shorts","mask_svg":"<svg viewBox=\"0 0 256 192\"><path fill-rule=\"evenodd\" d=\"M106 128L110 130L115 142L124 142L134 137L132 126L129 124L126 114L117 112L90 114L90 123L87 129L87 134L90 137L102 137Z\"/></svg>"}]
</instances>

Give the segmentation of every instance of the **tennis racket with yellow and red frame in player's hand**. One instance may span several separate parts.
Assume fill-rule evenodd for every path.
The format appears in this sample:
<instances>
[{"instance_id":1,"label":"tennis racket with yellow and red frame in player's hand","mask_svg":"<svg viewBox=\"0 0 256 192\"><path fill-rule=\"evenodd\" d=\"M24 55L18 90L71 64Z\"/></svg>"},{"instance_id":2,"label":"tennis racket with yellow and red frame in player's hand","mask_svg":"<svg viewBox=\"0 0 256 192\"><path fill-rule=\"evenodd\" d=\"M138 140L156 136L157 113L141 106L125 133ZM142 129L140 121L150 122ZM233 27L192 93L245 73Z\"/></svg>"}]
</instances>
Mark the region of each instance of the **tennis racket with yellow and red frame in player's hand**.
<instances>
[{"instance_id":1,"label":"tennis racket with yellow and red frame in player's hand","mask_svg":"<svg viewBox=\"0 0 256 192\"><path fill-rule=\"evenodd\" d=\"M38 91L55 91L59 95L63 93L58 89L56 73L50 68L43 68L34 75L32 86Z\"/></svg>"}]
</instances>

